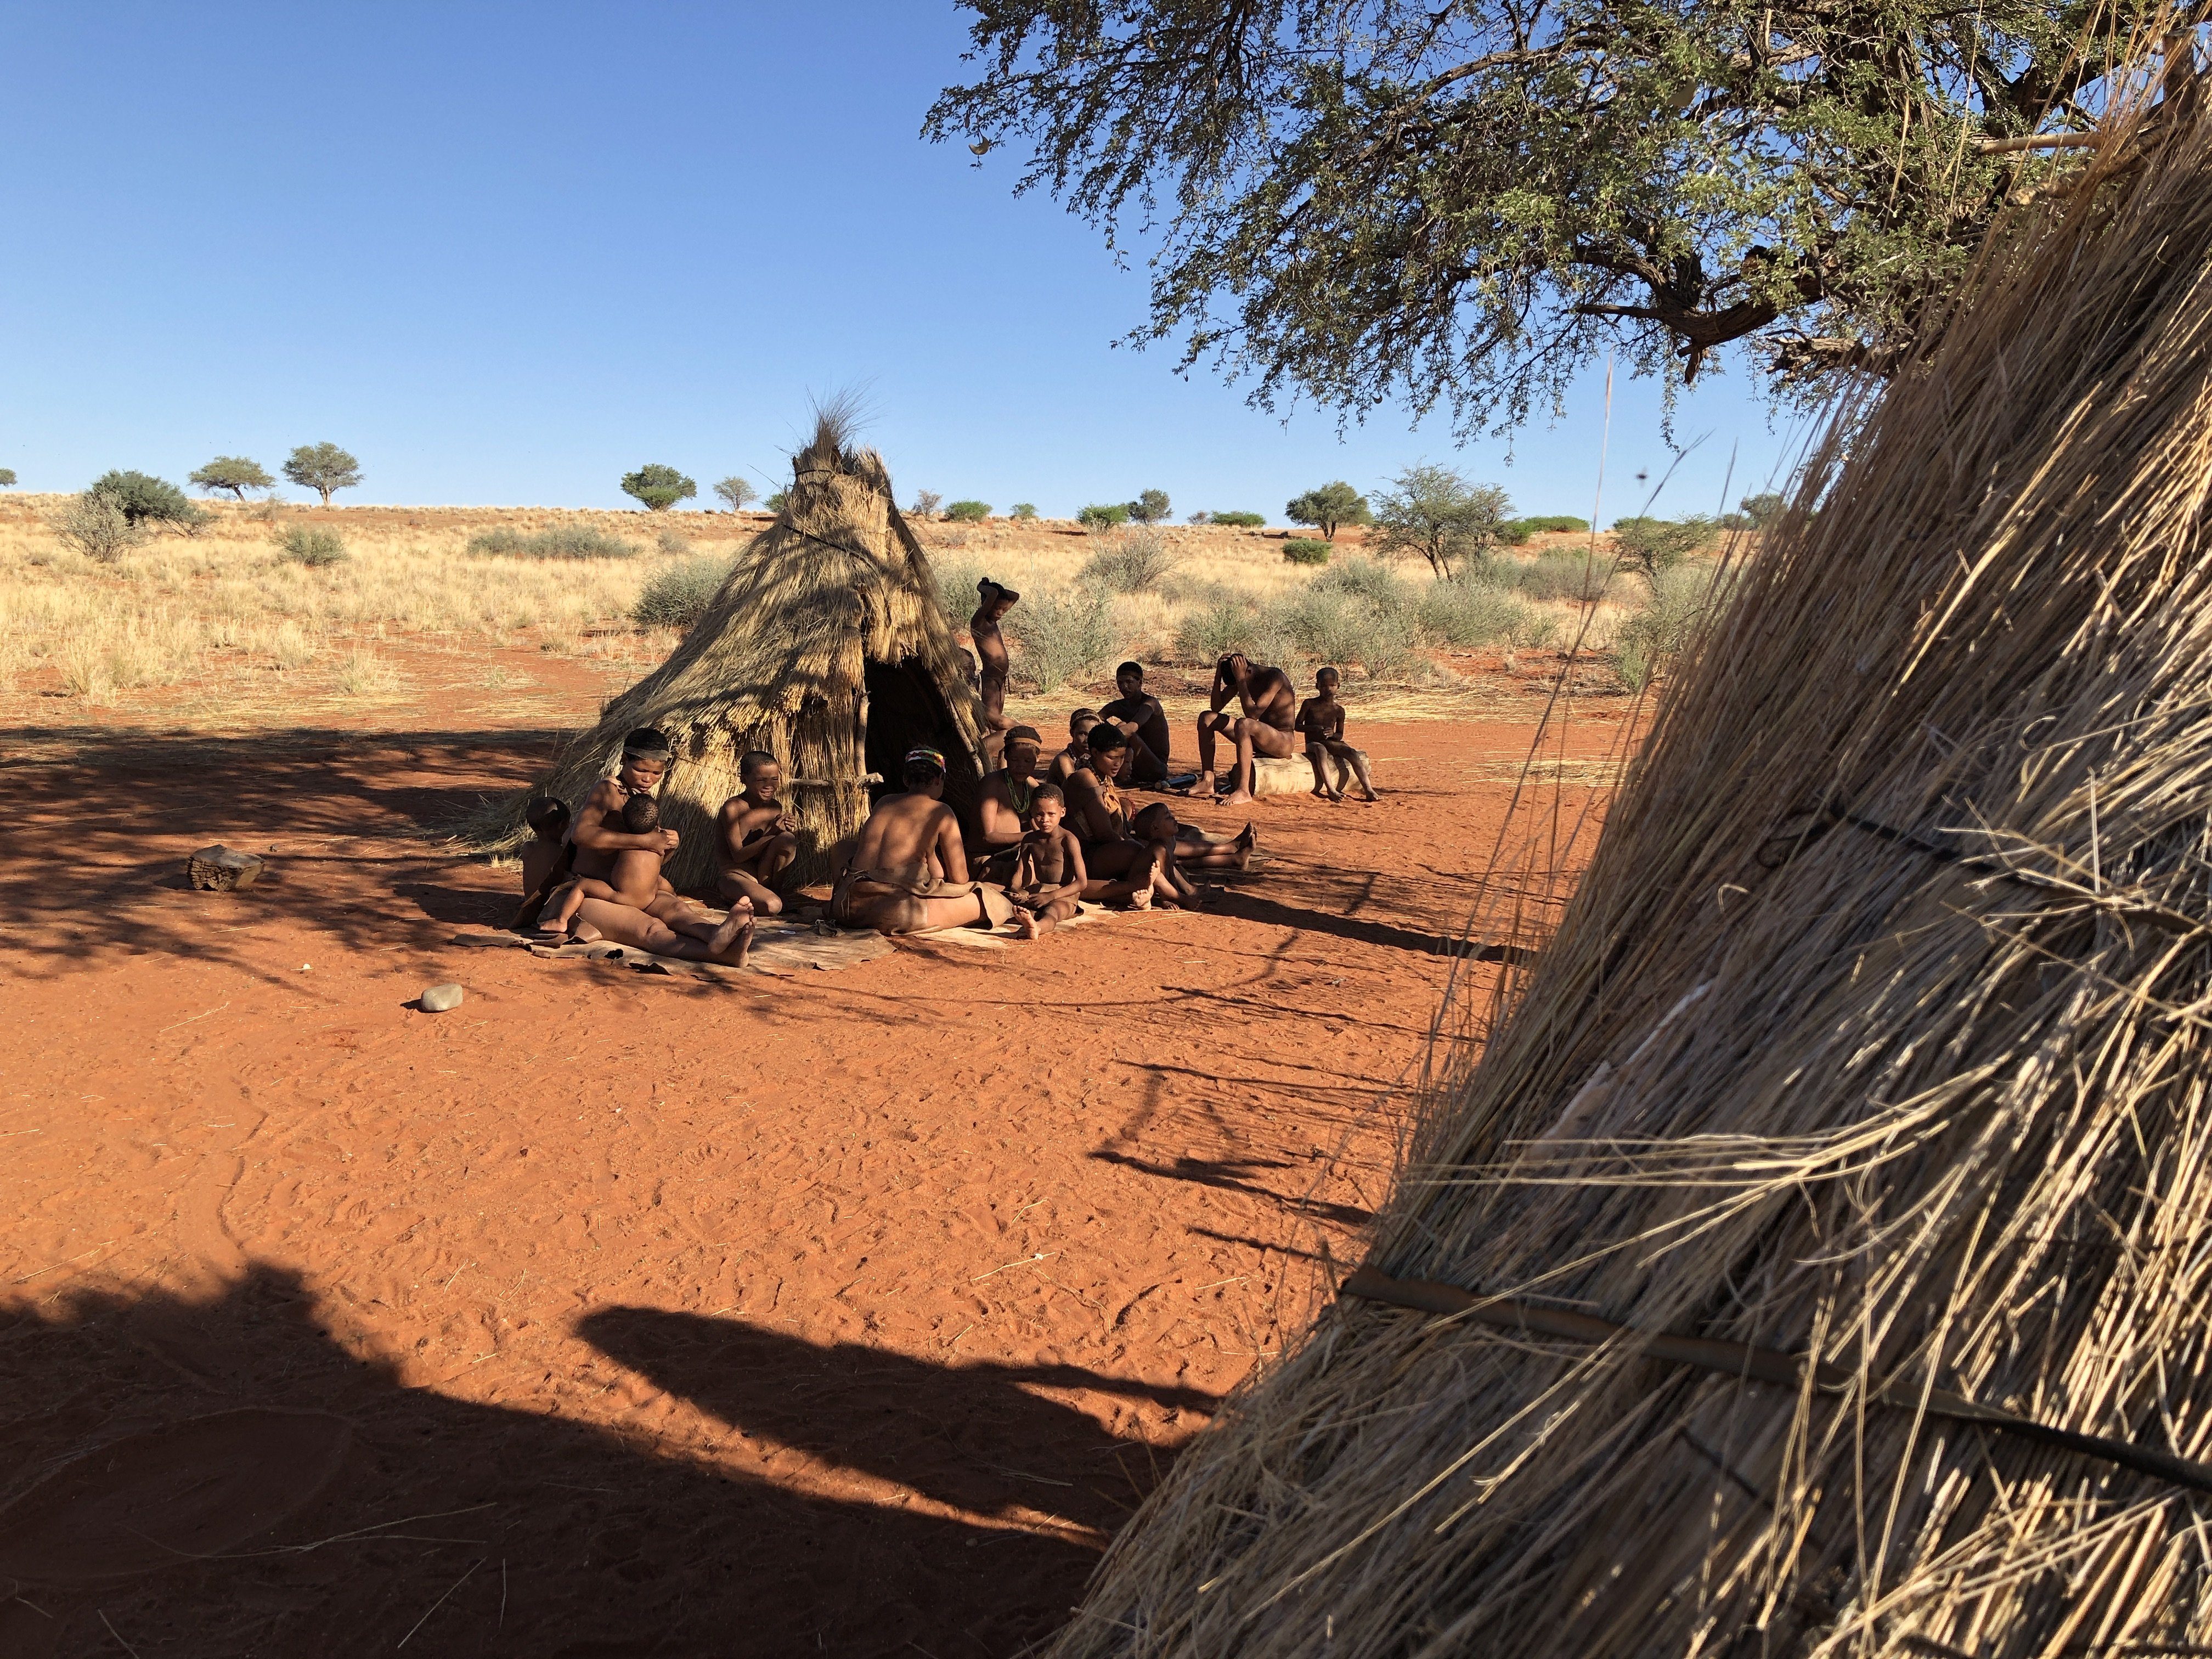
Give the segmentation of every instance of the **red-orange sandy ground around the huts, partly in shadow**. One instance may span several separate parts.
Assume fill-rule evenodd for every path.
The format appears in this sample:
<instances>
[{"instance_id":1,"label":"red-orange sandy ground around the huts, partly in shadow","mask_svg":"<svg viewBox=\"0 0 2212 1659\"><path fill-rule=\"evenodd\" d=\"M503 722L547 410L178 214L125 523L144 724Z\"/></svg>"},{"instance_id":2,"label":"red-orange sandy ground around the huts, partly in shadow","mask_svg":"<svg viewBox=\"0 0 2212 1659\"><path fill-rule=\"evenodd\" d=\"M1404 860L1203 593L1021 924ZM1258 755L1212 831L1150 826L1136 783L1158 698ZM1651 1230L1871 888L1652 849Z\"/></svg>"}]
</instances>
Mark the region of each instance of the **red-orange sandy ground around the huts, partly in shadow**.
<instances>
[{"instance_id":1,"label":"red-orange sandy ground around the huts, partly in shadow","mask_svg":"<svg viewBox=\"0 0 2212 1659\"><path fill-rule=\"evenodd\" d=\"M1048 1632L1356 1250L1535 712L1356 730L1217 914L708 984L449 945L546 701L11 745L0 1655Z\"/></svg>"}]
</instances>

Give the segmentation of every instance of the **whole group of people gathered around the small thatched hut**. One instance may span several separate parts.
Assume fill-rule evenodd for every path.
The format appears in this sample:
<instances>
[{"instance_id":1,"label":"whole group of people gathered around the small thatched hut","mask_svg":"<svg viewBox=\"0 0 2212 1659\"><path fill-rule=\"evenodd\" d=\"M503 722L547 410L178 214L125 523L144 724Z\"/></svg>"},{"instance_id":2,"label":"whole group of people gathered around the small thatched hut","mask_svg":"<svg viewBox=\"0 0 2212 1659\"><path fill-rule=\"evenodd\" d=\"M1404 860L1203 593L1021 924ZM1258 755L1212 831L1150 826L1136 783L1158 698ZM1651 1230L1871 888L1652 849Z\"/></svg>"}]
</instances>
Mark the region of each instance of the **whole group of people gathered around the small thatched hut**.
<instances>
[{"instance_id":1,"label":"whole group of people gathered around the small thatched hut","mask_svg":"<svg viewBox=\"0 0 2212 1659\"><path fill-rule=\"evenodd\" d=\"M1192 872L1243 869L1256 845L1252 825L1234 836L1206 834L1179 823L1166 801L1133 807L1124 790L1181 787L1237 805L1252 799L1254 759L1285 759L1298 739L1314 765L1314 794L1343 799L1327 776L1336 759L1363 796L1376 799L1365 759L1345 741L1336 670L1323 668L1316 695L1298 703L1281 668L1259 668L1241 653L1214 666L1194 776L1175 779L1168 717L1135 661L1115 670L1119 695L1110 703L1068 717L1068 743L1046 763L1037 730L1004 719L998 622L1018 597L987 580L973 624L987 752L998 759L982 779L978 845L969 847L945 805L945 754L907 752L900 792L869 812L830 889L836 925L918 933L1011 922L1018 936L1037 938L1073 918L1082 900L1128 909L1199 905L1203 889ZM1230 699L1241 712L1228 712ZM1225 790L1217 783L1223 743L1234 745ZM799 823L779 799L783 768L765 750L739 759L741 790L714 821L717 885L730 902L717 916L661 874L679 845L679 834L661 827L655 799L670 759L666 734L639 728L624 739L615 776L602 779L575 814L551 796L529 803L535 841L522 858L529 898L515 914L518 929L546 942L611 940L657 956L745 962L754 918L783 909L776 878L799 856Z\"/></svg>"}]
</instances>

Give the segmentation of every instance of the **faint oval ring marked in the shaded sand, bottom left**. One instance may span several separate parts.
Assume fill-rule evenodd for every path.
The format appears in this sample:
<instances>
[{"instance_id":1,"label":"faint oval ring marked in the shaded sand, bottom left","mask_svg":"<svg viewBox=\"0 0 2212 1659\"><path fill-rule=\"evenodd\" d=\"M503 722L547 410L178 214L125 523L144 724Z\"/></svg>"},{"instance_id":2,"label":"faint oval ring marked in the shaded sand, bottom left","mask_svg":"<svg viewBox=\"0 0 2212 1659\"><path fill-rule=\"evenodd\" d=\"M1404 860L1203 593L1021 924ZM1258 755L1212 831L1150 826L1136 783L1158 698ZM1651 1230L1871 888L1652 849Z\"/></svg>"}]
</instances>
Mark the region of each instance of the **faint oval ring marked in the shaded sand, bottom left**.
<instances>
[{"instance_id":1,"label":"faint oval ring marked in the shaded sand, bottom left","mask_svg":"<svg viewBox=\"0 0 2212 1659\"><path fill-rule=\"evenodd\" d=\"M303 1509L352 1431L321 1411L219 1411L117 1440L0 1511L0 1577L102 1584L221 1555Z\"/></svg>"}]
</instances>

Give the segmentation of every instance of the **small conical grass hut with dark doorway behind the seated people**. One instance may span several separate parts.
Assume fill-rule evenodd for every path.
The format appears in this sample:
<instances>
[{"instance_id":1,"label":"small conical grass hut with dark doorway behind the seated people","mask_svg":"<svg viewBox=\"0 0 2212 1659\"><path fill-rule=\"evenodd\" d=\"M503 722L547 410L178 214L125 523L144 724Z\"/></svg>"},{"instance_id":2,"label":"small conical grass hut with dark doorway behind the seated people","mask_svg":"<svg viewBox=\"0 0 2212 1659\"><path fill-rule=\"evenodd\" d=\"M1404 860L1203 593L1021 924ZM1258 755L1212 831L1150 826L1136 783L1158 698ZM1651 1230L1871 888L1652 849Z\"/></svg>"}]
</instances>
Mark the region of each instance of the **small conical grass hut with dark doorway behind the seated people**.
<instances>
[{"instance_id":1,"label":"small conical grass hut with dark doorway behind the seated people","mask_svg":"<svg viewBox=\"0 0 2212 1659\"><path fill-rule=\"evenodd\" d=\"M900 757L918 743L945 750L945 799L962 816L973 807L975 695L929 555L883 458L854 445L849 425L841 409L821 414L776 522L739 553L668 661L611 701L542 785L575 805L613 774L624 732L668 732L675 763L659 801L661 823L684 836L666 869L677 887L714 880L714 812L737 794L745 750L783 763L803 883L832 874L872 790L885 779L896 790Z\"/></svg>"}]
</instances>

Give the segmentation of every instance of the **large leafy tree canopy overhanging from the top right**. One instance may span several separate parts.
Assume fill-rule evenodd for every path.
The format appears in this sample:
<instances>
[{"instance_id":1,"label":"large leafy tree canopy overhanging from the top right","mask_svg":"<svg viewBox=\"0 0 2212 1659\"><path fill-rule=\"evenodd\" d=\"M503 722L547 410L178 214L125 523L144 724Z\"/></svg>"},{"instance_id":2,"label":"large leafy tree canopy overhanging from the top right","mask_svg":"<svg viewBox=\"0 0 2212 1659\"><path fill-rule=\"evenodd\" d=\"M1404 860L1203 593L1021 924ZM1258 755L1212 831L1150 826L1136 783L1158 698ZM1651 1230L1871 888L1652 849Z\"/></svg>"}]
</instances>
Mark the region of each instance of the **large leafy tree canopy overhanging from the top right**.
<instances>
[{"instance_id":1,"label":"large leafy tree canopy overhanging from the top right","mask_svg":"<svg viewBox=\"0 0 2212 1659\"><path fill-rule=\"evenodd\" d=\"M1593 354L1776 387L1891 363L2079 166L2148 0L962 0L925 135L1157 234L1152 316L1279 396L1553 403ZM2170 40L2208 15L2181 0ZM2188 51L2168 73L2181 75ZM982 161L978 161L982 166Z\"/></svg>"}]
</instances>

